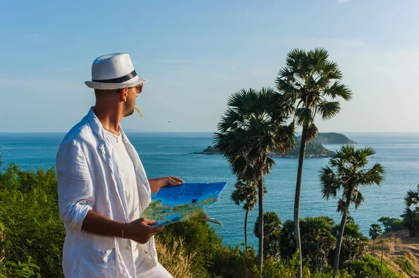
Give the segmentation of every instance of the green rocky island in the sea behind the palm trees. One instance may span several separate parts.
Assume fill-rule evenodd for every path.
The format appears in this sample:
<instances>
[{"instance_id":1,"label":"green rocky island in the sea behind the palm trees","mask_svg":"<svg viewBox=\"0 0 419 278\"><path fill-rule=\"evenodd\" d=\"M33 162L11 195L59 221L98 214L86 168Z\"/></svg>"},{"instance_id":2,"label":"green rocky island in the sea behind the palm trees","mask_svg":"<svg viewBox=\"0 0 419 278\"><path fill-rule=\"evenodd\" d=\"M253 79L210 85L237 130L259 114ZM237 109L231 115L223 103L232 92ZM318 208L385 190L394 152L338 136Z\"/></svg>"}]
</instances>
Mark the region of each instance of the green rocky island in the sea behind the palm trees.
<instances>
[{"instance_id":1,"label":"green rocky island in the sea behind the palm trees","mask_svg":"<svg viewBox=\"0 0 419 278\"><path fill-rule=\"evenodd\" d=\"M300 155L300 141L301 137L298 137L297 144L294 150L290 150L285 155L279 153L274 154L274 157L298 157ZM306 145L305 157L316 158L316 157L332 157L335 155L333 150L328 150L323 144L356 144L355 141L349 139L344 134L335 132L321 132L317 134L316 139L310 141ZM217 151L213 146L208 146L203 150L202 153L192 153L199 155L216 155Z\"/></svg>"}]
</instances>

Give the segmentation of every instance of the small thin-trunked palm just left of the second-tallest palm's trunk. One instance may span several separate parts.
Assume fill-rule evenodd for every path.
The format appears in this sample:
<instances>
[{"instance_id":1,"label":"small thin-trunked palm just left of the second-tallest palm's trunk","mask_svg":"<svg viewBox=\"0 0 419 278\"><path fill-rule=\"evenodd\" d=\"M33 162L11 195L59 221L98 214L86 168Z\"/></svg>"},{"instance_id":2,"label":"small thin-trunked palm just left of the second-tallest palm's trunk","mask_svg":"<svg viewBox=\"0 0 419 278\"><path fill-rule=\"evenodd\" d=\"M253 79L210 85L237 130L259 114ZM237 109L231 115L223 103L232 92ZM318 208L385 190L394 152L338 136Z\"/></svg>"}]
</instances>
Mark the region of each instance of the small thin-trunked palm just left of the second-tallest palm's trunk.
<instances>
[{"instance_id":1,"label":"small thin-trunked palm just left of the second-tallest palm's trunk","mask_svg":"<svg viewBox=\"0 0 419 278\"><path fill-rule=\"evenodd\" d=\"M244 183L243 180L237 180L234 187L235 190L231 194L231 199L237 206L240 206L240 203L244 203L243 209L246 211L244 216L244 242L247 245L247 219L249 210L253 210L258 202L258 185L251 181Z\"/></svg>"}]
</instances>

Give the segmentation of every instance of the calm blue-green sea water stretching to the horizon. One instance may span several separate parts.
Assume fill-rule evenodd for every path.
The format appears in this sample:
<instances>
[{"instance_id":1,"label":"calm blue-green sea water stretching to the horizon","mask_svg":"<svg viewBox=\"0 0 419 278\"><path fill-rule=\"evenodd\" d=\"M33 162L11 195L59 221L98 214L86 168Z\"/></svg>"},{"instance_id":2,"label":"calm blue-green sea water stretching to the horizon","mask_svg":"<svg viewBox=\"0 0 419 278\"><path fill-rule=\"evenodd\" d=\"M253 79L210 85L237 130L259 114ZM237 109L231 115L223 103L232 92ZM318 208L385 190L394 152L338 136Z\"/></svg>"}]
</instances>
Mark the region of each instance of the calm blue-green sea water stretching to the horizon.
<instances>
[{"instance_id":1,"label":"calm blue-green sea water stretching to the horizon","mask_svg":"<svg viewBox=\"0 0 419 278\"><path fill-rule=\"evenodd\" d=\"M219 218L224 226L216 226L226 245L244 241L244 210L230 201L235 177L220 155L190 155L212 144L212 133L128 133L138 151L149 178L179 176L189 182L228 181L221 200L208 213ZM419 184L419 133L346 133L362 148L372 146L376 155L371 163L385 167L385 181L381 187L364 187L365 203L351 213L362 232L368 235L369 225L381 216L399 217L404 210L404 195ZM54 167L55 155L64 134L59 133L0 133L3 167L15 162L22 169ZM339 145L325 145L335 150ZM277 167L265 179L265 211L274 211L282 222L293 218L293 201L297 159L276 158ZM327 158L306 159L304 162L301 217L328 215L340 222L336 213L337 200L321 198L318 171L328 163ZM257 246L253 225L258 210L249 213L249 242Z\"/></svg>"}]
</instances>

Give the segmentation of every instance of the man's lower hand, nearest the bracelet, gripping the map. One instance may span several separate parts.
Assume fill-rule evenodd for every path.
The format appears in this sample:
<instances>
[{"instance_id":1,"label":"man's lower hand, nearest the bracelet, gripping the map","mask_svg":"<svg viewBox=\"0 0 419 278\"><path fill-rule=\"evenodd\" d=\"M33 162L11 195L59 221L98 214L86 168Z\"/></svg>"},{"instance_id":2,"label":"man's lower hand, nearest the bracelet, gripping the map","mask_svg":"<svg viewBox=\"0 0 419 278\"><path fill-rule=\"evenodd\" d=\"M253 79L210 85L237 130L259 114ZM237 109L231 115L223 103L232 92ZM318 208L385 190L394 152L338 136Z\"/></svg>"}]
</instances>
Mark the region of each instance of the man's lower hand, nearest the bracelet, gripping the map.
<instances>
[{"instance_id":1,"label":"man's lower hand, nearest the bracelet, gripping the map","mask_svg":"<svg viewBox=\"0 0 419 278\"><path fill-rule=\"evenodd\" d=\"M163 231L164 226L154 226L157 222L139 218L133 222L126 223L124 226L124 238L129 238L142 244L147 243L156 233Z\"/></svg>"}]
</instances>

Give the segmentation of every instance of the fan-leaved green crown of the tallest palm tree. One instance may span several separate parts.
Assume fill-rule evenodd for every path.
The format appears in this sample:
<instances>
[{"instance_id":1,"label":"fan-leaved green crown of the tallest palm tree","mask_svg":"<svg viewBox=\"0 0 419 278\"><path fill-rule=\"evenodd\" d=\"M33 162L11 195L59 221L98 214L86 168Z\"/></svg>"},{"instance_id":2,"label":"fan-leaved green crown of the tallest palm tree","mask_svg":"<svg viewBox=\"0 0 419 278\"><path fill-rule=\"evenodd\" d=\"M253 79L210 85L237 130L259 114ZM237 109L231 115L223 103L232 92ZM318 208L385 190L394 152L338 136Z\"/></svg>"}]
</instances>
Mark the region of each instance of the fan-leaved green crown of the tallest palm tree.
<instances>
[{"instance_id":1,"label":"fan-leaved green crown of the tallest palm tree","mask_svg":"<svg viewBox=\"0 0 419 278\"><path fill-rule=\"evenodd\" d=\"M297 123L308 127L316 114L328 119L339 113L339 102L327 98L351 100L351 91L339 81L342 77L337 63L329 60L326 49L307 52L293 49L288 52L286 66L279 70L275 83L288 101L297 102Z\"/></svg>"}]
</instances>

